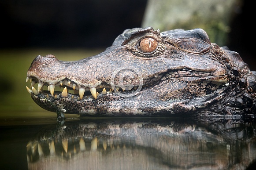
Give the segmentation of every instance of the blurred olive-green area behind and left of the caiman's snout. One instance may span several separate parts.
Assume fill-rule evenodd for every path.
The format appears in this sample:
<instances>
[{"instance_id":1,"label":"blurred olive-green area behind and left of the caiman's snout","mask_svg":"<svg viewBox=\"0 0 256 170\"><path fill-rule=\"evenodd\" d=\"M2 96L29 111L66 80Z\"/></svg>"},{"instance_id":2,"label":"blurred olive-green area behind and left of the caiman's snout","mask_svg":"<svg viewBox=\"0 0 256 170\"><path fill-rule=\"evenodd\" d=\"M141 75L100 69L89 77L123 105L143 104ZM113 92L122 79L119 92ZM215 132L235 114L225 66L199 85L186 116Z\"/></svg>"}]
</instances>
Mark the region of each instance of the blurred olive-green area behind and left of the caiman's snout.
<instances>
[{"instance_id":1,"label":"blurred olive-green area behind and left of the caiman's snout","mask_svg":"<svg viewBox=\"0 0 256 170\"><path fill-rule=\"evenodd\" d=\"M100 53L100 50L10 49L0 51L0 124L17 124L19 120L56 118L56 113L41 109L30 98L26 72L37 55L53 54L59 60L74 61ZM71 116L72 117L72 116ZM77 117L77 116L76 116ZM18 122L17 122L18 121ZM19 122L19 123L22 123ZM23 121L24 123L24 121ZM23 124L22 123L22 124ZM26 124L26 123L25 123Z\"/></svg>"}]
</instances>

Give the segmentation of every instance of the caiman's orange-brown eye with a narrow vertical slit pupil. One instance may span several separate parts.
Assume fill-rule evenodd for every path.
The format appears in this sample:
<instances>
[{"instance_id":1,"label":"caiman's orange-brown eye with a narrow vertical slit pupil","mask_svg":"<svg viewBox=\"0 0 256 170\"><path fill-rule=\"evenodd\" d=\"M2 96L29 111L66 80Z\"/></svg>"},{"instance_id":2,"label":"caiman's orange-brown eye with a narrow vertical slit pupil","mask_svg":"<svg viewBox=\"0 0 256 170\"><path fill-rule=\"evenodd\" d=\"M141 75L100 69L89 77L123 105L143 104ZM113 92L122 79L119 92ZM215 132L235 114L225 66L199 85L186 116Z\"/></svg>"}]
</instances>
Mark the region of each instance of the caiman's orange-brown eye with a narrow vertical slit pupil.
<instances>
[{"instance_id":1,"label":"caiman's orange-brown eye with a narrow vertical slit pupil","mask_svg":"<svg viewBox=\"0 0 256 170\"><path fill-rule=\"evenodd\" d=\"M144 53L151 53L155 51L157 46L158 46L157 40L150 37L146 37L142 39L139 43L139 48Z\"/></svg>"}]
</instances>

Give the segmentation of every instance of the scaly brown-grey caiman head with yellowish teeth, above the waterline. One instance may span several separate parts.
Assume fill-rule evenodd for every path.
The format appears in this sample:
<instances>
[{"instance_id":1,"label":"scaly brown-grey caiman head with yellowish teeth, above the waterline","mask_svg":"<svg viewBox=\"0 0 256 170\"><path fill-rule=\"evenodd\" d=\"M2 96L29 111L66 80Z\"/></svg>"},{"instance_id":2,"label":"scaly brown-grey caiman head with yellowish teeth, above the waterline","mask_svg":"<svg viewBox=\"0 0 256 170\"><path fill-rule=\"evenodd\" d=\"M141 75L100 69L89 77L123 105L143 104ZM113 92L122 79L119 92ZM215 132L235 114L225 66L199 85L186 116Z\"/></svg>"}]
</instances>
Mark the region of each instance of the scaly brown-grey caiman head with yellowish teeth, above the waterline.
<instances>
[{"instance_id":1,"label":"scaly brown-grey caiman head with yellowish teeth, above the waterline","mask_svg":"<svg viewBox=\"0 0 256 170\"><path fill-rule=\"evenodd\" d=\"M33 100L59 117L65 112L209 116L256 110L255 74L239 54L211 43L202 29L127 29L106 51L89 58L37 56L28 80Z\"/></svg>"}]
</instances>

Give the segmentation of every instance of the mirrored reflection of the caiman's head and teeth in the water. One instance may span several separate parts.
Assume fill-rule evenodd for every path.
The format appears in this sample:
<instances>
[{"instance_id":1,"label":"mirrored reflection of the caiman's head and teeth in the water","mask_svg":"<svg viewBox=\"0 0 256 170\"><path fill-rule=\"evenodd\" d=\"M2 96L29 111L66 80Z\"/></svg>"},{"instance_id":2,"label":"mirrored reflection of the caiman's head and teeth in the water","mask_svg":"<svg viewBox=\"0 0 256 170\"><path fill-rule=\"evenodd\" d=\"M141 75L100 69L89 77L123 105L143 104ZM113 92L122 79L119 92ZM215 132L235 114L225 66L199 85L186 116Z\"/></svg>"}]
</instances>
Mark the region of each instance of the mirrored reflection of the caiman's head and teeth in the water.
<instances>
[{"instance_id":1,"label":"mirrored reflection of the caiman's head and teeth in the water","mask_svg":"<svg viewBox=\"0 0 256 170\"><path fill-rule=\"evenodd\" d=\"M246 169L255 160L255 119L82 119L27 144L29 169Z\"/></svg>"}]
</instances>

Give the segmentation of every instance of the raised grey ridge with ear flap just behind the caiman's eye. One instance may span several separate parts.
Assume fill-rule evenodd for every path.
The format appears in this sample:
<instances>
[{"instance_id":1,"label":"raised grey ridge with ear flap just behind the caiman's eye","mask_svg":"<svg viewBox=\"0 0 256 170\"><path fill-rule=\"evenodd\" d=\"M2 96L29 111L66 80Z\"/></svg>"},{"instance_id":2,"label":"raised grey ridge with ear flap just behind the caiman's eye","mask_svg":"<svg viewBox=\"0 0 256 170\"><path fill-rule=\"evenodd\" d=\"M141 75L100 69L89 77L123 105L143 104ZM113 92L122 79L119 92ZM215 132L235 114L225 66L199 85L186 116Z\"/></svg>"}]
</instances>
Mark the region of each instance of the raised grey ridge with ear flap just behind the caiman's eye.
<instances>
[{"instance_id":1,"label":"raised grey ridge with ear flap just behind the caiman's eye","mask_svg":"<svg viewBox=\"0 0 256 170\"><path fill-rule=\"evenodd\" d=\"M200 54L210 50L211 41L203 29L163 34L163 40L182 51Z\"/></svg>"}]
</instances>

